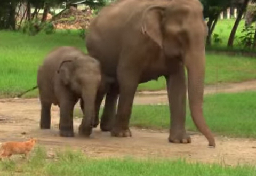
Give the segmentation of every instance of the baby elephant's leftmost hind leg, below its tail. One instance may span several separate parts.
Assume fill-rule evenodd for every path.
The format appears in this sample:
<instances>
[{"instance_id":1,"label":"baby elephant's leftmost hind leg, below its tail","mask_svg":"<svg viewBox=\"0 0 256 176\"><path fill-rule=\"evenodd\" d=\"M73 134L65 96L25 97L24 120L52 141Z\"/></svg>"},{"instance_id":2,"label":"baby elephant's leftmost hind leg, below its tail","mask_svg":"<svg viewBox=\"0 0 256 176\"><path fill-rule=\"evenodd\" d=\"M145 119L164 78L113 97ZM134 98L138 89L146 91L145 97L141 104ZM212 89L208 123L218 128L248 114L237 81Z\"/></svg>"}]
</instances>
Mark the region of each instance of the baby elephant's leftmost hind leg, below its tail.
<instances>
[{"instance_id":1,"label":"baby elephant's leftmost hind leg, below its tail","mask_svg":"<svg viewBox=\"0 0 256 176\"><path fill-rule=\"evenodd\" d=\"M50 129L51 127L51 103L41 102L40 128Z\"/></svg>"}]
</instances>

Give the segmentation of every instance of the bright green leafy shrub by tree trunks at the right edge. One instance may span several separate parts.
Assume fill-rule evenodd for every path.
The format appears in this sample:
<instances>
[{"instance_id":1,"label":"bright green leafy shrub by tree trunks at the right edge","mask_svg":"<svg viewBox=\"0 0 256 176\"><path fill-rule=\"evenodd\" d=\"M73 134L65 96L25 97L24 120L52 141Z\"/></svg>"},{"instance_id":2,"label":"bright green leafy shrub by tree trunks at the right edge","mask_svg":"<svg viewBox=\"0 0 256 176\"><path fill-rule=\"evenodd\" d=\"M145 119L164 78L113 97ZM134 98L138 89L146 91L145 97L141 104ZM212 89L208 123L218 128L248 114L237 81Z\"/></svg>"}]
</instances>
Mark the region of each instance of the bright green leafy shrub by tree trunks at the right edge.
<instances>
[{"instance_id":1,"label":"bright green leafy shrub by tree trunks at the right edge","mask_svg":"<svg viewBox=\"0 0 256 176\"><path fill-rule=\"evenodd\" d=\"M239 39L241 39L241 43L244 47L251 48L253 46L254 32L253 26L245 26L243 28L243 35L239 37Z\"/></svg>"}]
</instances>

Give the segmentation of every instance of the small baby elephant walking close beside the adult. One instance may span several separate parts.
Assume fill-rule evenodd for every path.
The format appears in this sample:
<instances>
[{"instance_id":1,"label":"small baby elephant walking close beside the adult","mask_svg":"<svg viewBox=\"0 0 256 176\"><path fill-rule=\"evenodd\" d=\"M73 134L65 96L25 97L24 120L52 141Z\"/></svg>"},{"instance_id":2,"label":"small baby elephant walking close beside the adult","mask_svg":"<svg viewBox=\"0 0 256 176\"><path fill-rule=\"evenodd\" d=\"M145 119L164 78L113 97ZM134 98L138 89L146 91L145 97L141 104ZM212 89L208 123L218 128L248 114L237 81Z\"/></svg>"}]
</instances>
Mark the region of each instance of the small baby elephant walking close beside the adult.
<instances>
[{"instance_id":1,"label":"small baby elephant walking close beside the adult","mask_svg":"<svg viewBox=\"0 0 256 176\"><path fill-rule=\"evenodd\" d=\"M79 134L89 136L95 121L95 98L101 85L100 63L75 47L50 52L37 73L41 101L40 128L50 129L51 105L60 107L60 135L73 137L73 110L80 99L83 120Z\"/></svg>"}]
</instances>

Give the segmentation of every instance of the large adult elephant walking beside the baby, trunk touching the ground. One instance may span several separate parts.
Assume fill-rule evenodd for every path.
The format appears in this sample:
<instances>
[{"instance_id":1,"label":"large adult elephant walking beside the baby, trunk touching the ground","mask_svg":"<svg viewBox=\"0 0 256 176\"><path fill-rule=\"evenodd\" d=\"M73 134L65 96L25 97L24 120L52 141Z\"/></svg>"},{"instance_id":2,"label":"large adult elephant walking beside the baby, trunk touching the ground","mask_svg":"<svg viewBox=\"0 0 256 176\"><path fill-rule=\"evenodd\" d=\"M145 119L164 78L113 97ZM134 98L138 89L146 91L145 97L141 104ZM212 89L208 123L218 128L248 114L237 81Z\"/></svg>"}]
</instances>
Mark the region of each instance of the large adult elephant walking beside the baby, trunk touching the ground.
<instances>
[{"instance_id":1,"label":"large adult elephant walking beside the baby, trunk touching the ground","mask_svg":"<svg viewBox=\"0 0 256 176\"><path fill-rule=\"evenodd\" d=\"M107 92L103 131L131 136L129 120L138 84L164 76L171 113L169 141L190 143L185 130L185 66L191 116L209 146L215 146L203 117L207 34L202 11L198 0L122 0L99 12L86 37L87 50L101 62L103 73L116 79ZM98 107L102 99L103 94L98 95Z\"/></svg>"}]
</instances>

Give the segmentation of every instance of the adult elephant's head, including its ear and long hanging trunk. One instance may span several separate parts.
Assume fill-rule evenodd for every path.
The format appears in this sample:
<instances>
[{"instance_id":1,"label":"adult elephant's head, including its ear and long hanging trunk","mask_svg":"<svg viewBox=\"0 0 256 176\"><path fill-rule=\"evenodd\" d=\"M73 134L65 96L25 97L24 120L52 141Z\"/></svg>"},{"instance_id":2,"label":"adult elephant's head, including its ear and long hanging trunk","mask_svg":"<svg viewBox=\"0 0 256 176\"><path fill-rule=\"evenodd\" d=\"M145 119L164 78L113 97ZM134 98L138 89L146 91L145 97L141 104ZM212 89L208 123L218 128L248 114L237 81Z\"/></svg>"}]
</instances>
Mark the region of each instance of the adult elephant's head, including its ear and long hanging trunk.
<instances>
[{"instance_id":1,"label":"adult elephant's head, including its ear and long hanging trunk","mask_svg":"<svg viewBox=\"0 0 256 176\"><path fill-rule=\"evenodd\" d=\"M215 140L203 116L206 25L197 0L166 1L149 6L142 15L142 32L161 47L165 57L179 58L187 68L191 116L210 146Z\"/></svg>"}]
</instances>

